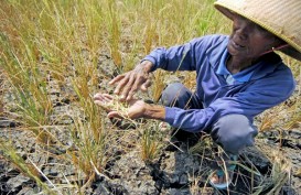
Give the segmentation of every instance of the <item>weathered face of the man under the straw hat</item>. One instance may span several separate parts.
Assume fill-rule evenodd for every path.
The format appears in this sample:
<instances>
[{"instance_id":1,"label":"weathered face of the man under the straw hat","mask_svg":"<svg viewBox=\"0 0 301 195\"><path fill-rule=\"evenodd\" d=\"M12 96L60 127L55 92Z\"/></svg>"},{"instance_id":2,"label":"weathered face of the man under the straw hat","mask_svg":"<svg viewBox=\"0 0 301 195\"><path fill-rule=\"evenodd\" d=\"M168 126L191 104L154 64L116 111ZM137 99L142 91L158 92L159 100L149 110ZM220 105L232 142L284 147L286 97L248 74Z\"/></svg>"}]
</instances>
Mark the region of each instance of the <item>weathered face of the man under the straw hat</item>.
<instances>
[{"instance_id":1,"label":"weathered face of the man under the straw hat","mask_svg":"<svg viewBox=\"0 0 301 195\"><path fill-rule=\"evenodd\" d=\"M233 57L255 61L278 44L277 37L268 31L238 14L234 15L233 32L227 45Z\"/></svg>"}]
</instances>

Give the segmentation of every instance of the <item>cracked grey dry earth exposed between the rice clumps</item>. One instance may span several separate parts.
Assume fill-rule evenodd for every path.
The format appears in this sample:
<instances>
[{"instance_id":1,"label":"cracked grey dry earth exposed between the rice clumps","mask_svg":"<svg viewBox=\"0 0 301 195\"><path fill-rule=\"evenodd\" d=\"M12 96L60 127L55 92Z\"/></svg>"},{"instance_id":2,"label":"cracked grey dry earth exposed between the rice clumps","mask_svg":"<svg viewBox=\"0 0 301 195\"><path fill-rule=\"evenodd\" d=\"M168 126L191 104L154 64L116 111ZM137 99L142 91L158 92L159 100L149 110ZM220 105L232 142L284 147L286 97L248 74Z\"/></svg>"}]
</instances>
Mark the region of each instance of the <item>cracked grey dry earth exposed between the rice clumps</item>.
<instances>
[{"instance_id":1,"label":"cracked grey dry earth exposed between the rice clumps","mask_svg":"<svg viewBox=\"0 0 301 195\"><path fill-rule=\"evenodd\" d=\"M107 80L101 75L114 75L110 67L112 62L108 55L101 55L99 58L99 83L100 89L106 88ZM109 73L108 73L109 72ZM57 133L60 140L64 143L60 148L41 147L34 137L18 128L14 121L2 118L0 121L0 137L12 140L20 155L31 161L41 167L42 172L55 184L64 184L64 177L68 181L75 181L75 170L72 165L65 165L53 155L61 155L72 150L74 147L72 139L66 131L73 124L73 120L68 117L60 117L64 112L73 112L73 100L75 97L71 86L60 88L53 80L50 83L50 95L55 105L55 111L50 118L55 122L53 133ZM299 94L299 91L295 91ZM9 97L7 95L6 97ZM294 97L300 98L300 97ZM8 100L7 100L8 101ZM108 128L112 127L108 121ZM139 140L139 130L129 129L132 131L128 139ZM65 133L62 133L65 132ZM137 132L137 133L136 133ZM236 170L236 185L232 185L229 194L250 194L252 187L260 187L270 184L259 194L269 194L273 188L272 169L277 160L288 161L290 163L289 180L284 183L280 194L297 195L301 194L301 153L300 153L300 127L286 131L280 134L276 130L260 133L257 138L255 148L245 150L239 156L240 162L254 170L258 170L260 175L251 175L249 171L243 166ZM169 132L163 133L162 142L169 139ZM123 140L123 142L128 142ZM202 144L202 141L200 142ZM179 149L165 145L160 155L151 163L143 162L140 155L140 149L131 147L130 150L122 151L116 148L115 161L107 164L108 172L97 176L90 187L87 187L85 194L101 194L101 195L190 195L190 194L227 194L226 191L214 191L207 184L209 174L211 153L208 150L195 151L190 147L190 142L183 141L178 144ZM281 147L280 147L281 145ZM0 151L1 152L1 151ZM273 161L272 161L273 160ZM272 162L271 162L272 161ZM62 165L63 164L63 165ZM254 182L250 182L254 177ZM20 173L18 169L0 155L0 194L19 194L30 195L37 194L41 188L26 175ZM272 193L270 193L272 194ZM275 194L275 193L273 193Z\"/></svg>"}]
</instances>

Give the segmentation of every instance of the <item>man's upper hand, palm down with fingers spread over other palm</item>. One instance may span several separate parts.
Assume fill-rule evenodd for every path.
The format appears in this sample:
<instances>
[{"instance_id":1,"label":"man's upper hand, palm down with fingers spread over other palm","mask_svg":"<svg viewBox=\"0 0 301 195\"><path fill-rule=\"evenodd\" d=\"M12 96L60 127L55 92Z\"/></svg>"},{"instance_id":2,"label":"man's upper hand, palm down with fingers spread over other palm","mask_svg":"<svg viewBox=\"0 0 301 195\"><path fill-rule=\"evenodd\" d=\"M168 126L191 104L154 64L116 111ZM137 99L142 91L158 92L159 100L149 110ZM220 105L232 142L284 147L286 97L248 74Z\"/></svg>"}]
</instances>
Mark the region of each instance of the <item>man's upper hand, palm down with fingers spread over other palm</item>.
<instances>
[{"instance_id":1,"label":"man's upper hand, palm down with fingers spread over other palm","mask_svg":"<svg viewBox=\"0 0 301 195\"><path fill-rule=\"evenodd\" d=\"M120 100L131 100L137 90L146 91L151 85L150 69L153 64L149 61L143 61L136 66L135 69L118 75L109 82L110 85L117 84L115 94L120 95Z\"/></svg>"}]
</instances>

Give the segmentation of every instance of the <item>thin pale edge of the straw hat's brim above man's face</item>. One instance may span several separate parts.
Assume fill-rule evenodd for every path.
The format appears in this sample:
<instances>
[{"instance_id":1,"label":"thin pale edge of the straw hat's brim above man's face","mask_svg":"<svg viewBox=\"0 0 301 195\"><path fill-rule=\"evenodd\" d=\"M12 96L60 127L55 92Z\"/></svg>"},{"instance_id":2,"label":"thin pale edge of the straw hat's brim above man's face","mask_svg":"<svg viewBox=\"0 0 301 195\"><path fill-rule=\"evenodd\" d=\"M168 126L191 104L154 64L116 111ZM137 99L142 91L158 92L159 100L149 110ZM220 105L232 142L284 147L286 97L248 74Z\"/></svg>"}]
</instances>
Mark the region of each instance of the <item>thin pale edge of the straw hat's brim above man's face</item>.
<instances>
[{"instance_id":1,"label":"thin pale edge of the straw hat's brim above man's face","mask_svg":"<svg viewBox=\"0 0 301 195\"><path fill-rule=\"evenodd\" d=\"M291 56L291 57L293 57L293 58L301 62L301 47L299 45L297 45L293 41L291 41L289 37L287 37L284 34L281 34L281 33L275 31L272 28L270 28L269 25L262 23L260 20L258 20L258 19L256 19L256 18L254 18L251 15L246 14L243 10L236 8L235 4L226 4L226 3L221 3L219 1L216 1L214 3L214 7L218 11L221 11L224 15L229 18L230 20L233 20L234 13L239 14L239 15L252 21L254 23L260 25L261 28L264 28L268 32L272 33L273 35L278 36L279 39L283 40L290 46L281 48L279 51L284 53L286 55L289 55L289 56Z\"/></svg>"}]
</instances>

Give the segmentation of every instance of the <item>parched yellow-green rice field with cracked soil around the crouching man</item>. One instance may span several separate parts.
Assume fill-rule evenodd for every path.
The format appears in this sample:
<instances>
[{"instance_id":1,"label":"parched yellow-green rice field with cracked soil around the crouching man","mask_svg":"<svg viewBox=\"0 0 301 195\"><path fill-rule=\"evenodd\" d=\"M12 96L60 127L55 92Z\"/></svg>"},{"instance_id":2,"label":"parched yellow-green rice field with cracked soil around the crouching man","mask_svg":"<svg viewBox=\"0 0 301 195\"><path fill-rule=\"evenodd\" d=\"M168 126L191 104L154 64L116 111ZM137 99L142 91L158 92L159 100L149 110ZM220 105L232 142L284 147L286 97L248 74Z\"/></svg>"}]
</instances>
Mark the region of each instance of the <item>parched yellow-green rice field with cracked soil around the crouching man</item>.
<instances>
[{"instance_id":1,"label":"parched yellow-green rice field with cracked soil around the crouching man","mask_svg":"<svg viewBox=\"0 0 301 195\"><path fill-rule=\"evenodd\" d=\"M207 191L207 170L200 163L212 160L204 155L209 141L187 152L183 145L165 151L169 132L157 121L110 121L93 96L111 93L108 82L133 68L154 47L228 34L232 23L213 2L0 0L0 192L205 194L200 189ZM254 162L241 165L248 172L246 194L300 192L301 66L287 56L283 61L298 87L288 101L256 120L258 143L264 143L257 151L267 167L258 176ZM157 102L168 83L180 79L193 89L194 78L194 73L160 71L153 75L155 85L137 97ZM290 151L283 152L283 147ZM192 163L197 174L182 170L189 176L181 178L176 163L162 167L176 160L172 156ZM244 194L238 191L232 193Z\"/></svg>"}]
</instances>

